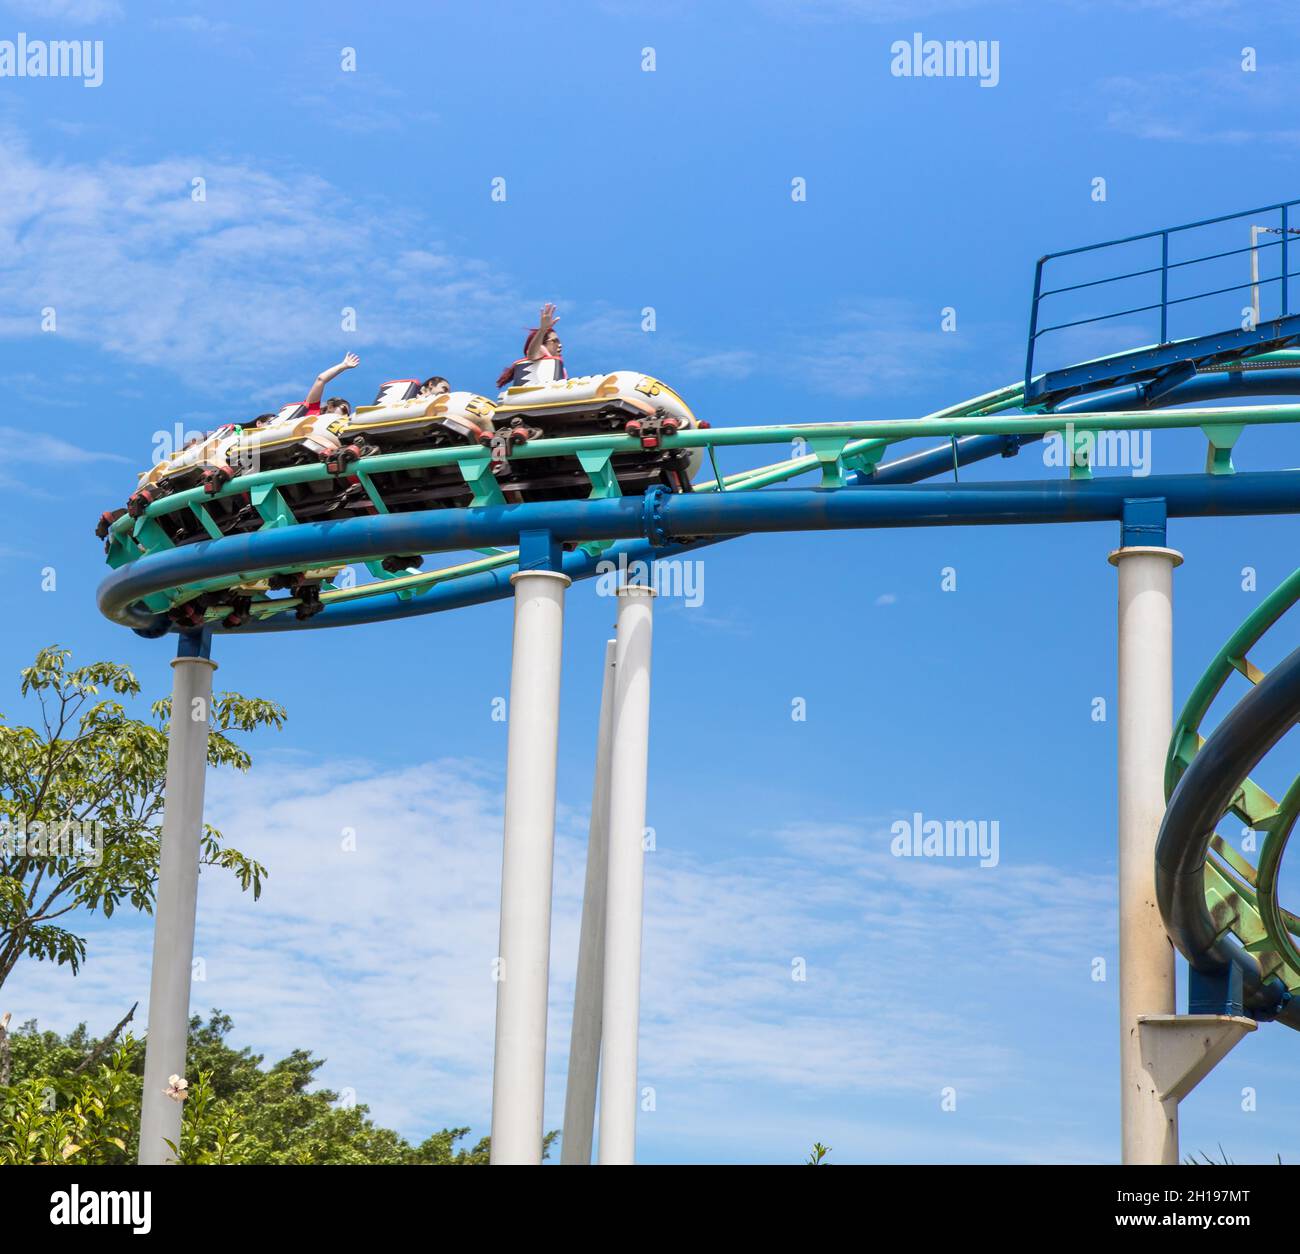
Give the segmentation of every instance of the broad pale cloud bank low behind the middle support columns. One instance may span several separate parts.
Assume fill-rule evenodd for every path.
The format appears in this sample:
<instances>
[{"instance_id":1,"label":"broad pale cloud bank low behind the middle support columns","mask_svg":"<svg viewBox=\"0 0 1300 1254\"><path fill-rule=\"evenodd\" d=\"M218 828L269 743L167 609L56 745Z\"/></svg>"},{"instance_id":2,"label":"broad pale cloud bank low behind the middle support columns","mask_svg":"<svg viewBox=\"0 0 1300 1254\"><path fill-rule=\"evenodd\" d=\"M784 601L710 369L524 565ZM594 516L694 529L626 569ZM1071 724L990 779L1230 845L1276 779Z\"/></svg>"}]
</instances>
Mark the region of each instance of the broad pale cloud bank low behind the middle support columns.
<instances>
[{"instance_id":1,"label":"broad pale cloud bank low behind the middle support columns","mask_svg":"<svg viewBox=\"0 0 1300 1254\"><path fill-rule=\"evenodd\" d=\"M458 759L404 771L313 761L309 772L287 760L224 780L212 810L272 876L255 904L204 875L195 1010L226 1010L259 1050L325 1055L328 1084L413 1136L448 1120L485 1128L497 772ZM562 810L549 1127L563 1101L584 829L581 812ZM736 833L734 843L742 851L706 858L660 833L647 855L642 1069L676 1094L655 1116L659 1136L716 1136L692 1092L737 1110L754 1086L836 1102L928 1103L940 1084L1001 1092L1023 1059L984 1003L991 980L1001 971L1009 986L1050 990L1109 934L1104 877L900 860L887 852L887 824L805 823ZM805 980L792 979L800 959ZM148 924L114 920L96 927L81 977L20 968L5 1007L51 1025L110 1023L147 995L148 960ZM927 972L942 973L942 998L916 995ZM997 1141L988 1127L978 1136ZM1002 1155L1017 1153L1011 1136ZM734 1137L723 1157L750 1151L744 1132Z\"/></svg>"}]
</instances>

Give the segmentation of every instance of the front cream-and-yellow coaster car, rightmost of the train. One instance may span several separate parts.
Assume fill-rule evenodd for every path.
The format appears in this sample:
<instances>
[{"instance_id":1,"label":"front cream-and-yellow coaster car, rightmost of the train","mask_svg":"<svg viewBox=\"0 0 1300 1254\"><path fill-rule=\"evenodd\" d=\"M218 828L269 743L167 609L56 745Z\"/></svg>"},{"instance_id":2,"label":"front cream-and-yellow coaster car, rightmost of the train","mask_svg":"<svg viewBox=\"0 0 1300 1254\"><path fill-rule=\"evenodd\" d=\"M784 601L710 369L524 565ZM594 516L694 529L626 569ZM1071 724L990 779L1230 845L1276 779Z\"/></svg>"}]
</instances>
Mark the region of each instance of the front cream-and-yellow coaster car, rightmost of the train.
<instances>
[{"instance_id":1,"label":"front cream-and-yellow coaster car, rightmost of the train","mask_svg":"<svg viewBox=\"0 0 1300 1254\"><path fill-rule=\"evenodd\" d=\"M499 456L508 459L500 474L507 500L569 500L592 494L592 480L572 454L510 459L512 433L525 442L606 431L634 435L641 448L618 452L610 463L624 495L641 495L653 485L689 493L703 460L701 448L663 447L666 435L703 424L667 383L636 370L507 387L497 400L495 420Z\"/></svg>"}]
</instances>

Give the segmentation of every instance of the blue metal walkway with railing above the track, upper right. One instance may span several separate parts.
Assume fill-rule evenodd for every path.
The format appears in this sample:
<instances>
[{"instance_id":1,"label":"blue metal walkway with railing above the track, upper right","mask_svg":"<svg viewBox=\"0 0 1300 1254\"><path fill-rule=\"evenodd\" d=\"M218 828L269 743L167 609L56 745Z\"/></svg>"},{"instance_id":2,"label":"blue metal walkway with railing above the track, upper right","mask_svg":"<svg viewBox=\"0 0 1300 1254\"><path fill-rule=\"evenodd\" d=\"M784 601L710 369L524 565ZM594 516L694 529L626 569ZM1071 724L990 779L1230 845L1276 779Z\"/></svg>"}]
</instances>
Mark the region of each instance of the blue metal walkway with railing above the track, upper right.
<instances>
[{"instance_id":1,"label":"blue metal walkway with railing above the track, upper right","mask_svg":"<svg viewBox=\"0 0 1300 1254\"><path fill-rule=\"evenodd\" d=\"M1080 394L1092 392L1097 389L1114 385L1138 385L1145 396L1154 399L1170 386L1191 378L1197 372L1221 368L1227 363L1239 360L1252 353L1269 352L1300 343L1300 313L1291 312L1290 281L1300 272L1290 269L1291 237L1300 234L1300 229L1292 225L1300 217L1292 209L1300 205L1300 200L1287 200L1271 205L1261 205L1256 209L1244 209L1238 213L1221 214L1219 217L1201 218L1197 222L1186 222L1179 226L1166 226L1154 231L1144 231L1139 235L1124 235L1119 239L1105 240L1098 244L1084 244L1078 248L1065 248L1060 252L1049 252L1040 257L1034 270L1034 299L1030 305L1030 334L1024 359L1024 400L1027 405L1043 409L1056 409L1061 402ZM1254 220L1277 216L1277 226L1268 227L1277 239L1270 239L1258 246L1242 248L1226 248L1208 252L1202 256L1190 257L1179 261L1170 261L1170 239L1186 235L1190 231L1202 230L1225 222ZM1143 266L1136 270L1127 270L1119 274L1108 274L1104 278L1087 279L1079 283L1063 283L1060 287L1044 287L1044 278L1052 262L1060 262L1066 257L1086 257L1089 255L1104 255L1106 250L1115 250L1128 244L1158 242L1160 262ZM1212 287L1196 291L1190 295L1170 296L1170 275L1182 275L1193 266L1208 265L1227 257L1247 257L1252 251L1258 256L1271 256L1270 250L1278 250L1279 273L1251 278L1242 283ZM1043 303L1048 298L1063 296L1071 292L1097 291L1108 285L1123 283L1128 279L1149 279L1154 287L1158 282L1158 296L1136 305L1126 305L1106 313L1092 314L1089 317L1071 318L1067 321L1043 325ZM1235 329L1217 329L1208 334L1199 334L1191 338L1169 338L1169 316L1171 309L1191 305L1199 300L1212 296L1227 295L1235 291L1264 290L1270 294L1275 290L1278 298L1278 311L1275 316L1261 318L1252 326L1238 326ZM1048 370L1037 377L1034 374L1034 359L1039 340L1054 331L1065 331L1083 326L1096 326L1114 318L1132 317L1134 314L1160 313L1160 334L1156 344L1145 348L1130 350L1126 352L1110 353L1092 361L1083 361L1062 369ZM1219 324L1222 325L1222 324Z\"/></svg>"}]
</instances>

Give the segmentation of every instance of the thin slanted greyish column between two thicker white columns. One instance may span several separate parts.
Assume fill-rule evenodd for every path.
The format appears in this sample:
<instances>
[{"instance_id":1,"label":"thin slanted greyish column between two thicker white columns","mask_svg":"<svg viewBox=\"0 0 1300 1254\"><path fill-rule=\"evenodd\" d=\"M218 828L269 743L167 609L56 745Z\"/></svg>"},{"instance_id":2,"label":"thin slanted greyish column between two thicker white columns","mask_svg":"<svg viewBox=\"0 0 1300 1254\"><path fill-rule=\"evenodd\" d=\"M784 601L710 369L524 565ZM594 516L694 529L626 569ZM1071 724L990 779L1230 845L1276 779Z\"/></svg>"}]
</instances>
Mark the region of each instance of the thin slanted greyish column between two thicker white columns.
<instances>
[{"instance_id":1,"label":"thin slanted greyish column between two thicker white columns","mask_svg":"<svg viewBox=\"0 0 1300 1254\"><path fill-rule=\"evenodd\" d=\"M601 1066L601 999L604 995L604 889L610 836L610 729L614 724L614 651L604 646L601 719L595 738L595 780L592 784L592 823L586 837L586 884L582 925L577 942L577 981L573 989L573 1030L569 1073L564 1089L564 1137L560 1163L592 1162L595 1127L595 1082Z\"/></svg>"}]
</instances>

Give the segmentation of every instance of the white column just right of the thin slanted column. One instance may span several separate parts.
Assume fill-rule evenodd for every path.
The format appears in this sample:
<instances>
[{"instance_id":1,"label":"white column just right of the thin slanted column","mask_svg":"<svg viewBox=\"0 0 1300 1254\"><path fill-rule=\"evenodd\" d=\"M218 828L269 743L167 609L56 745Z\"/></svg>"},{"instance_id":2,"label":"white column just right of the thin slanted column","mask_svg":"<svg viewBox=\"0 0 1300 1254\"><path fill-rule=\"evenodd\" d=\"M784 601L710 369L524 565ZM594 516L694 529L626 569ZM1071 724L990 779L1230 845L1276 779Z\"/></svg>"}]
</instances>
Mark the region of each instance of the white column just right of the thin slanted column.
<instances>
[{"instance_id":1,"label":"white column just right of the thin slanted column","mask_svg":"<svg viewBox=\"0 0 1300 1254\"><path fill-rule=\"evenodd\" d=\"M642 838L650 750L650 638L654 590L619 590L610 747L610 851L604 919L599 1162L632 1163L637 1138L641 1027Z\"/></svg>"}]
</instances>

